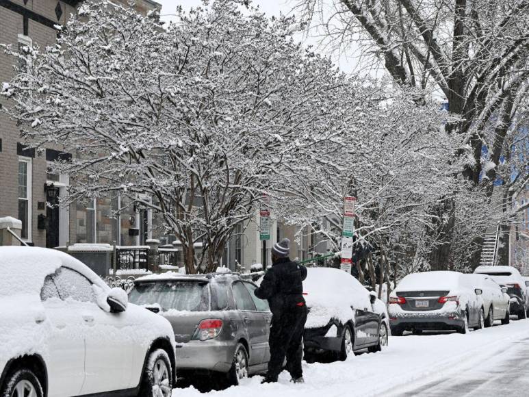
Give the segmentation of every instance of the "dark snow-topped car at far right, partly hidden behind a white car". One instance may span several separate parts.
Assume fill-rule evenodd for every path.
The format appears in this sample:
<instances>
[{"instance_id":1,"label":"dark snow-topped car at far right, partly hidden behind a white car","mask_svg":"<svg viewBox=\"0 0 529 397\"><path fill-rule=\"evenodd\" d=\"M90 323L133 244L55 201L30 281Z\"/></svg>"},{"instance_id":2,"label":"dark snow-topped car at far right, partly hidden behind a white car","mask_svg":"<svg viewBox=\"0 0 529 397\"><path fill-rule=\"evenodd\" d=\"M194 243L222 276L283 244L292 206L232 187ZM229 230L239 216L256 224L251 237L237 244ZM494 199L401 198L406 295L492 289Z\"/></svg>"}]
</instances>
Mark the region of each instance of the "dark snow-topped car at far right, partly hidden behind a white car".
<instances>
[{"instance_id":1,"label":"dark snow-topped car at far right, partly hidden behind a white car","mask_svg":"<svg viewBox=\"0 0 529 397\"><path fill-rule=\"evenodd\" d=\"M526 281L520 272L512 266L478 266L474 273L488 274L491 279L500 285L507 287L507 293L511 296L511 314L524 319L529 311L529 296L526 290Z\"/></svg>"}]
</instances>

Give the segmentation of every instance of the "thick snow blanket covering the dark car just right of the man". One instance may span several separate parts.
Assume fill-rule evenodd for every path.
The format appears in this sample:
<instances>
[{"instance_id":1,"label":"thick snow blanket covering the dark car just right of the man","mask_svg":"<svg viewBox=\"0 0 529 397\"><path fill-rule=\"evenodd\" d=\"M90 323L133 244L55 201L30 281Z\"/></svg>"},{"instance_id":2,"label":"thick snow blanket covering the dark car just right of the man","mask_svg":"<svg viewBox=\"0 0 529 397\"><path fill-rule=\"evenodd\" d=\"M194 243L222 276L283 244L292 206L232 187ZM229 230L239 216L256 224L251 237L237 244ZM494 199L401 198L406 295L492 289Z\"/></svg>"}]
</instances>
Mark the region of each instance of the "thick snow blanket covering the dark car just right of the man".
<instances>
[{"instance_id":1,"label":"thick snow blanket covering the dark car just right of the man","mask_svg":"<svg viewBox=\"0 0 529 397\"><path fill-rule=\"evenodd\" d=\"M354 320L352 307L371 307L369 292L361 283L334 268L308 268L303 291L309 308L306 328L326 326L332 318L341 322Z\"/></svg>"}]
</instances>

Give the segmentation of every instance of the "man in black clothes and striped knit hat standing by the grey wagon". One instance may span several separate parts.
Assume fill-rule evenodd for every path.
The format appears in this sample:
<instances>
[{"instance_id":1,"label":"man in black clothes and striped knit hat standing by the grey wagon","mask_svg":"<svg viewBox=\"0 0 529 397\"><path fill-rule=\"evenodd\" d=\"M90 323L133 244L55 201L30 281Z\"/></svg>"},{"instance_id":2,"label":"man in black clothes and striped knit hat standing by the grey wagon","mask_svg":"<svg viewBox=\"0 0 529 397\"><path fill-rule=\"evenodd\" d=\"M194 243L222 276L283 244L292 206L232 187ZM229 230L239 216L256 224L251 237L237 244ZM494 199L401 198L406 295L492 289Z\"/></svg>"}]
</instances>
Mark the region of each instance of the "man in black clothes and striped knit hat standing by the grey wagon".
<instances>
[{"instance_id":1,"label":"man in black clothes and striped knit hat standing by the grey wagon","mask_svg":"<svg viewBox=\"0 0 529 397\"><path fill-rule=\"evenodd\" d=\"M302 281L307 269L289 259L290 240L284 238L272 247L272 268L266 272L255 296L268 300L272 310L270 361L263 381L277 382L287 357L287 370L294 383L303 383L301 340L307 321Z\"/></svg>"}]
</instances>

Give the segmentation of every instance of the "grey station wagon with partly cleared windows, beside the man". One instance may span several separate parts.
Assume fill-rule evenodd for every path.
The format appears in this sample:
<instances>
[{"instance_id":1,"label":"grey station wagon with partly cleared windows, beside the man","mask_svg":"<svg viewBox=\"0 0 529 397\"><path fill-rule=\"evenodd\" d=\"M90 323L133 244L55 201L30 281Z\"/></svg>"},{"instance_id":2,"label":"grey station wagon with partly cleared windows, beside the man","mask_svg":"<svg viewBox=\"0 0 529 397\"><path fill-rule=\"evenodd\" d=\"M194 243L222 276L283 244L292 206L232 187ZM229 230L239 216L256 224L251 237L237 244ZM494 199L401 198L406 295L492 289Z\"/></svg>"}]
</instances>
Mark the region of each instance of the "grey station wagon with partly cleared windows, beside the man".
<instances>
[{"instance_id":1,"label":"grey station wagon with partly cleared windows, beside the man","mask_svg":"<svg viewBox=\"0 0 529 397\"><path fill-rule=\"evenodd\" d=\"M129 300L168 319L175 333L179 371L227 375L232 384L266 372L272 313L255 285L235 273L168 272L136 279Z\"/></svg>"}]
</instances>

